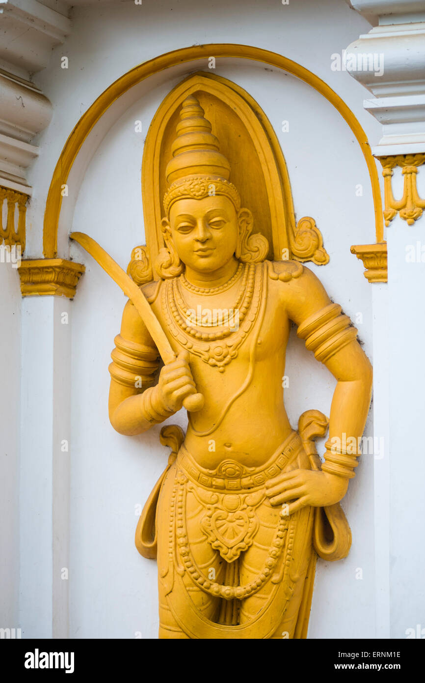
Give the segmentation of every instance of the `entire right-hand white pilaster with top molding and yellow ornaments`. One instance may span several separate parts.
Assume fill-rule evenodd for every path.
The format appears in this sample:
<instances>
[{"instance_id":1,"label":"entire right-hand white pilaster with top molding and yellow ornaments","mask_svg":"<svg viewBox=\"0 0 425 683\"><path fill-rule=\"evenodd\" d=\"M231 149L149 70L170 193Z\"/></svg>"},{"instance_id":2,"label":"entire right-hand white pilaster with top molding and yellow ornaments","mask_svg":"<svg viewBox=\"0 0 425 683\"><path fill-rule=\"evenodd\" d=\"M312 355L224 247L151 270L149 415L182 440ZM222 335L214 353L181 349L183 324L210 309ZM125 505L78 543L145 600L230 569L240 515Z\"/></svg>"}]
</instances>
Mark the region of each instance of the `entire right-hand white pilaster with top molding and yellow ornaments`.
<instances>
[{"instance_id":1,"label":"entire right-hand white pilaster with top molding and yellow ornaments","mask_svg":"<svg viewBox=\"0 0 425 683\"><path fill-rule=\"evenodd\" d=\"M346 51L347 70L372 97L364 108L382 125L370 141L383 169L387 242L357 245L373 301L375 458L375 596L377 637L405 638L424 626L425 591L418 572L425 503L422 363L425 322L425 6L420 0L353 0L373 28ZM359 68L362 65L362 68ZM370 68L371 67L371 68ZM385 250L387 284L374 277ZM407 581L409 576L409 581Z\"/></svg>"}]
</instances>

